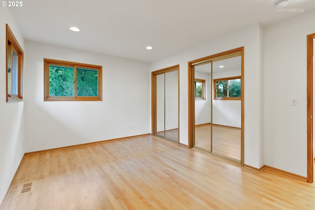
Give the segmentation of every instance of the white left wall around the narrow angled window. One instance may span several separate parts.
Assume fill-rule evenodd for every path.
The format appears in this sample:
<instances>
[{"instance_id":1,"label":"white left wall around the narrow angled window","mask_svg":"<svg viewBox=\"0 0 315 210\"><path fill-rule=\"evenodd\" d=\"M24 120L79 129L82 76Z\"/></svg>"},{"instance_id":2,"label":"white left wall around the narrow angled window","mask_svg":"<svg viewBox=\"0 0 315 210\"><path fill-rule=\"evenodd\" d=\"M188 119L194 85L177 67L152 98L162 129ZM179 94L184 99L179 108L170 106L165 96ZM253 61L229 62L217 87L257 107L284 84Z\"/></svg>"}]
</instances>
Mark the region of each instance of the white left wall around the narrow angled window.
<instances>
[{"instance_id":1,"label":"white left wall around the narrow angled window","mask_svg":"<svg viewBox=\"0 0 315 210\"><path fill-rule=\"evenodd\" d=\"M0 203L24 155L24 102L5 102L5 24L25 51L24 40L6 7L0 7Z\"/></svg>"}]
</instances>

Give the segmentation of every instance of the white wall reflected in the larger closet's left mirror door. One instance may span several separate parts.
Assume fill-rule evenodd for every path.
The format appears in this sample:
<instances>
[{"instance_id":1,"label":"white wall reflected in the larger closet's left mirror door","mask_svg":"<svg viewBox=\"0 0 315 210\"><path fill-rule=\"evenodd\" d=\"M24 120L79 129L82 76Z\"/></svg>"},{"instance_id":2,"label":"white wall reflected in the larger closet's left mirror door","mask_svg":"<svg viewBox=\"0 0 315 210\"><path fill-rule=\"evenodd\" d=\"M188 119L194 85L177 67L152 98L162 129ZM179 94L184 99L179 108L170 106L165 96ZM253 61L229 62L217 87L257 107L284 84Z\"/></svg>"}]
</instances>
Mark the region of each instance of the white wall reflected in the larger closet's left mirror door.
<instances>
[{"instance_id":1,"label":"white wall reflected in the larger closet's left mirror door","mask_svg":"<svg viewBox=\"0 0 315 210\"><path fill-rule=\"evenodd\" d=\"M209 64L207 64L209 65ZM205 97L206 100L195 100L195 124L205 124L211 122L211 74L198 72L198 66L195 67L195 78L206 80ZM211 68L211 65L210 65ZM209 71L211 70L209 68Z\"/></svg>"}]
</instances>

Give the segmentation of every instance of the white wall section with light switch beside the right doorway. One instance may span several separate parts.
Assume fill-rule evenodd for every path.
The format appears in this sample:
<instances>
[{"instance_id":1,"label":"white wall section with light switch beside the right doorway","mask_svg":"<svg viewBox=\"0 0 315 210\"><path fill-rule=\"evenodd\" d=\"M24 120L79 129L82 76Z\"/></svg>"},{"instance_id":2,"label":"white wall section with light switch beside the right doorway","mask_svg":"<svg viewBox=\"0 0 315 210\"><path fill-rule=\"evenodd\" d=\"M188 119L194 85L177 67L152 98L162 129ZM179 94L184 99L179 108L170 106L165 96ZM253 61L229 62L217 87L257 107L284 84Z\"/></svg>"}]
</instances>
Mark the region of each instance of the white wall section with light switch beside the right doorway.
<instances>
[{"instance_id":1,"label":"white wall section with light switch beside the right doorway","mask_svg":"<svg viewBox=\"0 0 315 210\"><path fill-rule=\"evenodd\" d=\"M307 40L315 12L265 29L265 164L307 177ZM291 106L291 97L297 106Z\"/></svg>"}]
</instances>

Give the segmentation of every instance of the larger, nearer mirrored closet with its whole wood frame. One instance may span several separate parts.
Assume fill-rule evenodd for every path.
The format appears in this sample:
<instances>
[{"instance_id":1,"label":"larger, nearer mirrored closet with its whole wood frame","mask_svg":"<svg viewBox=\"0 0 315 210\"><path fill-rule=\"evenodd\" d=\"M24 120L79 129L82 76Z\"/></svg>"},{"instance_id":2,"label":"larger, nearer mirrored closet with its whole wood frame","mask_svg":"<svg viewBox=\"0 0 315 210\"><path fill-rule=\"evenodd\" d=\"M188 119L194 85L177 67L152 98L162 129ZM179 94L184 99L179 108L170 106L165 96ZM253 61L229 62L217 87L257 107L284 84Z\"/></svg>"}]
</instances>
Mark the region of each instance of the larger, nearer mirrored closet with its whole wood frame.
<instances>
[{"instance_id":1,"label":"larger, nearer mirrored closet with its whole wood frame","mask_svg":"<svg viewBox=\"0 0 315 210\"><path fill-rule=\"evenodd\" d=\"M189 148L244 165L244 47L192 60L188 71Z\"/></svg>"}]
</instances>

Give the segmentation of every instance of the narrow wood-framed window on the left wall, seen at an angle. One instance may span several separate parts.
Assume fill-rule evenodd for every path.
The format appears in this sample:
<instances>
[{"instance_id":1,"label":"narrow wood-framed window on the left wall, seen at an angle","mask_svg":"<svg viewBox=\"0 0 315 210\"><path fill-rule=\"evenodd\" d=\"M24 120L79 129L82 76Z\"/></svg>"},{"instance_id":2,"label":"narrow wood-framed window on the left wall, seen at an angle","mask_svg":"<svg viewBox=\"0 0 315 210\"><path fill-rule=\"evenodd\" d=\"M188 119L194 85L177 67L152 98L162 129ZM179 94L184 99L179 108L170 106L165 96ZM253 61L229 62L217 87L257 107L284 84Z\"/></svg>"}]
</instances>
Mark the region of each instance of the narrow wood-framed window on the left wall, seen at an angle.
<instances>
[{"instance_id":1,"label":"narrow wood-framed window on the left wall, seen at an angle","mask_svg":"<svg viewBox=\"0 0 315 210\"><path fill-rule=\"evenodd\" d=\"M23 50L6 24L6 102L23 99Z\"/></svg>"}]
</instances>

